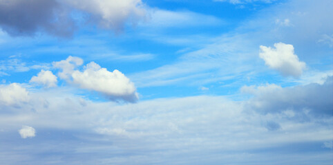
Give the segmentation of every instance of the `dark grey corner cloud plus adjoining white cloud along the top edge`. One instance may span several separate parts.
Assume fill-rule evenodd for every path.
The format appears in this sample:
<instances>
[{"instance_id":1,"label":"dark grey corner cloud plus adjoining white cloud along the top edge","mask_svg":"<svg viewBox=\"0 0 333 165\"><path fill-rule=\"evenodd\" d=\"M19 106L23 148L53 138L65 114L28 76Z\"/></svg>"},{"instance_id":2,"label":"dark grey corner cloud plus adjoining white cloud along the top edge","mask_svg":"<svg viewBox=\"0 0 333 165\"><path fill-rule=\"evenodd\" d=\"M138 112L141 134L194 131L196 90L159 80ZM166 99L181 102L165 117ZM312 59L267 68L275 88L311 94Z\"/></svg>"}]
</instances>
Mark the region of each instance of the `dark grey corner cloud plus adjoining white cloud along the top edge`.
<instances>
[{"instance_id":1,"label":"dark grey corner cloud plus adjoining white cloud along the top edge","mask_svg":"<svg viewBox=\"0 0 333 165\"><path fill-rule=\"evenodd\" d=\"M70 14L73 10L88 14L92 22L116 32L127 21L135 24L145 17L141 0L1 0L0 28L12 36L32 36L37 32L71 36L77 28Z\"/></svg>"}]
</instances>

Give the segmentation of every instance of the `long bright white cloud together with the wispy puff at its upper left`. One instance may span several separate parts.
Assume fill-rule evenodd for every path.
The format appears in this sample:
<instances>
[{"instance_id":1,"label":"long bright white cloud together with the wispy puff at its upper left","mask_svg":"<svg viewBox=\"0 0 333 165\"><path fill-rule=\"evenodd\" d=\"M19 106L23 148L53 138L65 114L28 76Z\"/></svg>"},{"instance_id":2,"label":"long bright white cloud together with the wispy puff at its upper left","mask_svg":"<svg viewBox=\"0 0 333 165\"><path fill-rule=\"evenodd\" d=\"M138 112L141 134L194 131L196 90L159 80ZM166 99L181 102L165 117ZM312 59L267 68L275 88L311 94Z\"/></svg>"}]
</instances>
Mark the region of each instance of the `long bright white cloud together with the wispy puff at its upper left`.
<instances>
[{"instance_id":1,"label":"long bright white cloud together with the wispy puff at its upper left","mask_svg":"<svg viewBox=\"0 0 333 165\"><path fill-rule=\"evenodd\" d=\"M54 62L53 66L61 69L59 78L82 89L104 94L110 100L135 102L138 99L135 85L122 72L117 69L108 72L94 62L84 66L84 71L81 72L77 67L82 64L82 58L69 56L66 60Z\"/></svg>"}]
</instances>

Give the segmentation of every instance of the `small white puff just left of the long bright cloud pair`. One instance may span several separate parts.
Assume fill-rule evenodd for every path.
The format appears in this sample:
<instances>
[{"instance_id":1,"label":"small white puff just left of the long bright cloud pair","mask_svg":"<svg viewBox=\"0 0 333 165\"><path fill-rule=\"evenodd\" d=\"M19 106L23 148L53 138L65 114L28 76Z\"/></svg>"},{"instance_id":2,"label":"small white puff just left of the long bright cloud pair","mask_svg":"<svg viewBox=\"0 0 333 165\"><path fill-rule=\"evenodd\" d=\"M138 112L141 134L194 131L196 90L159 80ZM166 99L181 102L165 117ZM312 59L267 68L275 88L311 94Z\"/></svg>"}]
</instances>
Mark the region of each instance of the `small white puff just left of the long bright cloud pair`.
<instances>
[{"instance_id":1,"label":"small white puff just left of the long bright cloud pair","mask_svg":"<svg viewBox=\"0 0 333 165\"><path fill-rule=\"evenodd\" d=\"M37 76L33 76L29 82L44 85L46 88L57 87L57 77L52 72L43 69Z\"/></svg>"}]
</instances>

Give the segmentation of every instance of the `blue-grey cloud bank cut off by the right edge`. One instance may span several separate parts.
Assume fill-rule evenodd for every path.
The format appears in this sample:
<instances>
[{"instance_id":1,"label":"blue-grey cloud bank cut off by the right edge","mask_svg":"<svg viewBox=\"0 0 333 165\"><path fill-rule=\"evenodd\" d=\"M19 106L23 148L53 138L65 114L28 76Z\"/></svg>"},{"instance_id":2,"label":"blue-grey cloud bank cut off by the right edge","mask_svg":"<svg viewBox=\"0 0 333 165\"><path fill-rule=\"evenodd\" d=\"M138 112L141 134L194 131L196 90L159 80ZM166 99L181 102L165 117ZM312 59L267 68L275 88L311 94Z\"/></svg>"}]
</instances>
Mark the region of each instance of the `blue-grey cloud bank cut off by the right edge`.
<instances>
[{"instance_id":1,"label":"blue-grey cloud bank cut off by the right edge","mask_svg":"<svg viewBox=\"0 0 333 165\"><path fill-rule=\"evenodd\" d=\"M265 87L243 87L242 91L254 94L247 102L247 107L262 113L278 113L293 111L316 116L333 113L333 77L327 77L323 85L310 85L281 88L277 85Z\"/></svg>"}]
</instances>

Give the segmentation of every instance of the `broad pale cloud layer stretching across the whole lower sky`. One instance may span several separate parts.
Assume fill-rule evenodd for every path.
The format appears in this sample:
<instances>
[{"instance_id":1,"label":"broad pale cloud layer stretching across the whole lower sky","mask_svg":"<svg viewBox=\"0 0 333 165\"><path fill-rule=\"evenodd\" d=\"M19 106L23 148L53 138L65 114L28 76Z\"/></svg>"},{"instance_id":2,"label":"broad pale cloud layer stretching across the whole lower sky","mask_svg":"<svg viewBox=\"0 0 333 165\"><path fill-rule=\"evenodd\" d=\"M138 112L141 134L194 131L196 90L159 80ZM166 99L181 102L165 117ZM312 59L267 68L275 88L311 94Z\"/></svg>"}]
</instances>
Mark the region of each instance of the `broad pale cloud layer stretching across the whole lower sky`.
<instances>
[{"instance_id":1,"label":"broad pale cloud layer stretching across the whole lower sky","mask_svg":"<svg viewBox=\"0 0 333 165\"><path fill-rule=\"evenodd\" d=\"M173 163L180 164L207 162L207 157L211 162L235 162L232 158L235 155L244 159L236 161L239 164L245 163L245 159L252 159L256 164L272 161L258 161L263 154L275 155L275 161L282 163L281 159L288 155L296 156L287 146L302 149L299 144L305 148L316 148L314 152L307 151L314 155L306 159L314 159L319 156L316 152L320 152L320 159L325 160L331 152L327 142L332 138L332 100L325 98L325 106L331 109L318 111L323 104L320 99L312 100L308 105L305 104L305 107L299 107L293 99L285 102L277 97L273 102L267 97L274 92L281 97L306 100L309 97L307 94L289 96L289 92L312 91L311 86L321 88L318 92L330 91L332 77L327 78L323 85L312 84L290 89L270 85L246 87L243 91L254 94L254 98L244 101L232 101L222 96L193 96L146 100L137 104L115 104L92 102L66 90L33 91L30 92L29 104L10 107L16 113L1 111L0 125L6 124L7 129L0 133L10 133L22 124L34 126L39 132L34 139L49 145L47 148L34 148L27 153L27 157L21 157L20 160L35 163L52 161L52 157L38 160L32 158L52 148L59 151L58 157L61 160L58 163L66 164L77 164L79 157L83 158L79 159L82 164L91 164L94 161L131 164L131 159L135 159L135 164L169 164L167 159L162 159L165 155ZM276 104L280 104L280 107L272 109ZM262 113L263 111L268 113ZM26 137L34 135L32 129L29 130L30 134L24 134ZM71 149L59 150L59 144L53 142L57 138L66 139L63 141L64 145ZM5 142L6 136L1 136L0 141ZM84 142L84 146L76 144L77 142ZM1 145L11 148L11 144ZM0 150L3 155L10 156L8 152L11 151L3 151L3 148ZM276 152L280 154L276 155ZM68 153L73 154L75 159L66 159ZM82 157L82 154L87 153L97 155ZM129 153L131 159L126 155ZM15 155L11 155L13 156ZM200 158L200 161L191 157ZM9 157L7 161L15 164L17 159Z\"/></svg>"}]
</instances>

